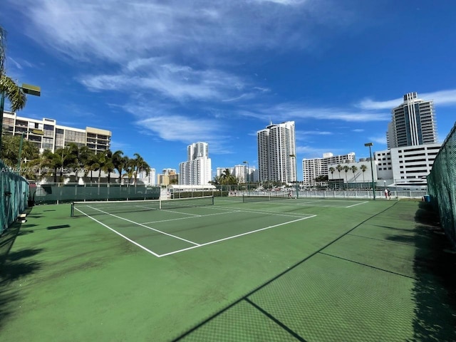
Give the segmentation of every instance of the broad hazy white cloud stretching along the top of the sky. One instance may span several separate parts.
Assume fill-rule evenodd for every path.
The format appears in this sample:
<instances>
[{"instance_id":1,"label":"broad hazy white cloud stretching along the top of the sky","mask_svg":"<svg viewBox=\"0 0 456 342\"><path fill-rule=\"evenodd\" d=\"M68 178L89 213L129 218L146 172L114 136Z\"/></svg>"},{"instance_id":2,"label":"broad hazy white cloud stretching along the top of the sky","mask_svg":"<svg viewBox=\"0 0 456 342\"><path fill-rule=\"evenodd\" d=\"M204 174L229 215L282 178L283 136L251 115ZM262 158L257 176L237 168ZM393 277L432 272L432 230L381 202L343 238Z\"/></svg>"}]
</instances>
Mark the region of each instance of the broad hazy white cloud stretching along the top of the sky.
<instances>
[{"instance_id":1,"label":"broad hazy white cloud stretching along the top of the sky","mask_svg":"<svg viewBox=\"0 0 456 342\"><path fill-rule=\"evenodd\" d=\"M338 1L24 0L20 5L7 1L28 16L31 26L26 32L31 38L92 63L93 57L125 62L132 54L176 53L201 62L207 53L306 48L316 38L315 26L350 25L349 10ZM342 11L344 21L333 20Z\"/></svg>"}]
</instances>

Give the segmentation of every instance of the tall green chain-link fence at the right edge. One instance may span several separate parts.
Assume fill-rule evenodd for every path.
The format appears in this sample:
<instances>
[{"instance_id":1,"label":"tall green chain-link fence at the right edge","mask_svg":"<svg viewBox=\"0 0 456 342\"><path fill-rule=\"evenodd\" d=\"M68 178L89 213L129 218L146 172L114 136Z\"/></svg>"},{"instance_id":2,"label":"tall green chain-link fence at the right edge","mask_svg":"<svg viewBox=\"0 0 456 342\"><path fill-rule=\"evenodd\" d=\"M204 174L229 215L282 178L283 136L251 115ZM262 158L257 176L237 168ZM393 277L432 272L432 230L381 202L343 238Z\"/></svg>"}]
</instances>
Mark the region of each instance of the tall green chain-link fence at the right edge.
<instances>
[{"instance_id":1,"label":"tall green chain-link fence at the right edge","mask_svg":"<svg viewBox=\"0 0 456 342\"><path fill-rule=\"evenodd\" d=\"M442 228L456 247L456 124L435 157L427 189Z\"/></svg>"}]
</instances>

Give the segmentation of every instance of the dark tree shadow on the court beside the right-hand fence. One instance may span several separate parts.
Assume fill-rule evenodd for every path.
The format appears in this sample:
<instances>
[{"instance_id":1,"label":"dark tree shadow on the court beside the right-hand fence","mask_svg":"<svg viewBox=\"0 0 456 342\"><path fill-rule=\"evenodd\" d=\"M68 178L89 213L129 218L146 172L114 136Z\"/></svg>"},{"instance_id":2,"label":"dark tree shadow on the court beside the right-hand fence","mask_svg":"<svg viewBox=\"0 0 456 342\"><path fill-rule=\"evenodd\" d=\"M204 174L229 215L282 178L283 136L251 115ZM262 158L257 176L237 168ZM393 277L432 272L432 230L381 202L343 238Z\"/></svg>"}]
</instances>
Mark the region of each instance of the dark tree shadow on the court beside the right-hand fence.
<instances>
[{"instance_id":1,"label":"dark tree shadow on the court beside the right-hand fence","mask_svg":"<svg viewBox=\"0 0 456 342\"><path fill-rule=\"evenodd\" d=\"M420 205L415 221L416 341L456 341L456 254L449 239L436 229L432 207ZM440 233L440 234L436 234Z\"/></svg>"}]
</instances>

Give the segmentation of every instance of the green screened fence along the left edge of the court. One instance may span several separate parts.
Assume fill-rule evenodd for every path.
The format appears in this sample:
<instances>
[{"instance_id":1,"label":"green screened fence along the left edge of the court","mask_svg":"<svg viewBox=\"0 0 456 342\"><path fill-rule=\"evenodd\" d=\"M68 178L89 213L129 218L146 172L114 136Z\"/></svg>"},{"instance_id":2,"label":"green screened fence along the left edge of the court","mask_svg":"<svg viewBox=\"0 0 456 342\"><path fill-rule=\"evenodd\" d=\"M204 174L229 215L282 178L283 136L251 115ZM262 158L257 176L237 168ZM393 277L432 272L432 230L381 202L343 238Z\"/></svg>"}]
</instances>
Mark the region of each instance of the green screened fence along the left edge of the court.
<instances>
[{"instance_id":1,"label":"green screened fence along the left edge of the court","mask_svg":"<svg viewBox=\"0 0 456 342\"><path fill-rule=\"evenodd\" d=\"M27 207L28 182L0 160L0 234Z\"/></svg>"}]
</instances>

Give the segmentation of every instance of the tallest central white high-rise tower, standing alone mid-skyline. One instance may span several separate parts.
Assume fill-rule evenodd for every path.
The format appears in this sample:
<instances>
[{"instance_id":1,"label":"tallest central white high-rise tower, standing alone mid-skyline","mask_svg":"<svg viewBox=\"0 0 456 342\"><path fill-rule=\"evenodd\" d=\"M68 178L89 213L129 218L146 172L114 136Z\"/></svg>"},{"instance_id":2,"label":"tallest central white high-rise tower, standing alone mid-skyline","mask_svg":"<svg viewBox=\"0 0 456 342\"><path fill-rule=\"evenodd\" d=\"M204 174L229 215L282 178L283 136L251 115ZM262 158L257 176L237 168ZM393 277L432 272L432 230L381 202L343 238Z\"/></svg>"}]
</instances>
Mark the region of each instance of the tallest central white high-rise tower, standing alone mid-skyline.
<instances>
[{"instance_id":1,"label":"tallest central white high-rise tower, standing alone mid-skyline","mask_svg":"<svg viewBox=\"0 0 456 342\"><path fill-rule=\"evenodd\" d=\"M257 142L260 182L297 180L294 121L271 123L257 132Z\"/></svg>"}]
</instances>

